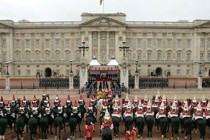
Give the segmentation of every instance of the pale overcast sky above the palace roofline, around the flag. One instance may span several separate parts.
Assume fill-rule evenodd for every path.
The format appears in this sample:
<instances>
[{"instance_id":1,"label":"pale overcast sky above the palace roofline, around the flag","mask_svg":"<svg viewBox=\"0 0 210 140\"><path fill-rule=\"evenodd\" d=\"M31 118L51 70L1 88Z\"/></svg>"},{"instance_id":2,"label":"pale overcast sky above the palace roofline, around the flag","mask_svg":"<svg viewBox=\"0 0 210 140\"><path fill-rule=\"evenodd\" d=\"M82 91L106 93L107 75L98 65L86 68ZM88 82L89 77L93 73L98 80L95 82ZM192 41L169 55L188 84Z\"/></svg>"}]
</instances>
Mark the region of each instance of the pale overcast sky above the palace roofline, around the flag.
<instances>
[{"instance_id":1,"label":"pale overcast sky above the palace roofline, around the flag","mask_svg":"<svg viewBox=\"0 0 210 140\"><path fill-rule=\"evenodd\" d=\"M100 0L1 0L0 20L80 21L102 13ZM210 0L104 0L105 13L124 12L128 21L210 19Z\"/></svg>"}]
</instances>

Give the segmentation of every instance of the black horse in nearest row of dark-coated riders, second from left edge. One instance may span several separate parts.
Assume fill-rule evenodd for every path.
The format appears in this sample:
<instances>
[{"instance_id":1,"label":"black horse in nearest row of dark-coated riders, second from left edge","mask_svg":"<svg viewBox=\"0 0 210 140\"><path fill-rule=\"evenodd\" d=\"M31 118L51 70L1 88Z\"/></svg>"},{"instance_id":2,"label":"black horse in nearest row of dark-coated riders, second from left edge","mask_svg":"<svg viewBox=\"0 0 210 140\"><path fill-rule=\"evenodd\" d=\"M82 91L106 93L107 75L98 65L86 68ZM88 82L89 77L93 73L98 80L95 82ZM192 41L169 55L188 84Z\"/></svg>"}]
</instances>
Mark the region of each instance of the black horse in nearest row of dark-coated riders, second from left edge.
<instances>
[{"instance_id":1,"label":"black horse in nearest row of dark-coated riders, second from left edge","mask_svg":"<svg viewBox=\"0 0 210 140\"><path fill-rule=\"evenodd\" d=\"M23 139L23 131L24 131L25 125L26 125L25 115L21 114L16 120L17 140L20 139L19 135L21 136L21 139Z\"/></svg>"}]
</instances>

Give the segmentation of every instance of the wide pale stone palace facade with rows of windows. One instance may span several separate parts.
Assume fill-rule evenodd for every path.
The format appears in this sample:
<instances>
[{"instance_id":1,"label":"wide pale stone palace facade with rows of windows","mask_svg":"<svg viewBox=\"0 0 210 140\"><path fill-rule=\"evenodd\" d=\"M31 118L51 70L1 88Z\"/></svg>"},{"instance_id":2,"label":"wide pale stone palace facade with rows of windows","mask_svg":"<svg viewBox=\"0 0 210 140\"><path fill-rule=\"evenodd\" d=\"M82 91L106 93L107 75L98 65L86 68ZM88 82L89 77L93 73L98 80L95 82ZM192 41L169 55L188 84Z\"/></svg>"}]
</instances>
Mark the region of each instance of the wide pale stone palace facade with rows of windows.
<instances>
[{"instance_id":1,"label":"wide pale stone palace facade with rows of windows","mask_svg":"<svg viewBox=\"0 0 210 140\"><path fill-rule=\"evenodd\" d=\"M0 20L0 77L7 70L11 77L67 76L70 60L78 75L81 56L103 65L114 56L120 64L123 42L132 75L210 75L210 20L127 21L124 13L82 13L81 21Z\"/></svg>"}]
</instances>

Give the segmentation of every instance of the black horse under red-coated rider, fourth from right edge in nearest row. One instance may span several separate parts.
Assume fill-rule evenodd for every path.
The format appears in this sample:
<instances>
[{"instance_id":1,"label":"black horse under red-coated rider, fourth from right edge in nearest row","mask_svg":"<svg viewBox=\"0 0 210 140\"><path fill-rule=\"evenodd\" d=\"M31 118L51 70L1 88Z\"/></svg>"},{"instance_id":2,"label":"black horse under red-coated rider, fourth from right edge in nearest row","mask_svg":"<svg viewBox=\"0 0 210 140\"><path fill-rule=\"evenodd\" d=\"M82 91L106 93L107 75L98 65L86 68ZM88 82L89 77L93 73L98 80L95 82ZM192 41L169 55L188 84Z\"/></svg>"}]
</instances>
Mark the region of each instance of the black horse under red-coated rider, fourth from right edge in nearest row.
<instances>
[{"instance_id":1,"label":"black horse under red-coated rider, fourth from right edge in nearest row","mask_svg":"<svg viewBox=\"0 0 210 140\"><path fill-rule=\"evenodd\" d=\"M180 121L178 117L171 117L171 139L173 139L174 134L177 135L177 139L179 139L179 125L180 125Z\"/></svg>"}]
</instances>

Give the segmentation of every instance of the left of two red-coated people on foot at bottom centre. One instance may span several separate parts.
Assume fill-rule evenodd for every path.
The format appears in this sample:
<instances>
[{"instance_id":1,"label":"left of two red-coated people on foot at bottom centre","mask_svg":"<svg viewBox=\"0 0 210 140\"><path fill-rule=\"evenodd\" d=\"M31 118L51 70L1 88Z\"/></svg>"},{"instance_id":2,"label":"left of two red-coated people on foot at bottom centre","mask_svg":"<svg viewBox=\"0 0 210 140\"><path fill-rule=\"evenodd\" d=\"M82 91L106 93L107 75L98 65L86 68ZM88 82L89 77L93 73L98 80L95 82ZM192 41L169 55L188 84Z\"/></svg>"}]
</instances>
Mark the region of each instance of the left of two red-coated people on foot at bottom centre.
<instances>
[{"instance_id":1,"label":"left of two red-coated people on foot at bottom centre","mask_svg":"<svg viewBox=\"0 0 210 140\"><path fill-rule=\"evenodd\" d=\"M95 125L87 120L86 125L84 126L84 135L86 140L92 140L93 131L95 130Z\"/></svg>"}]
</instances>

